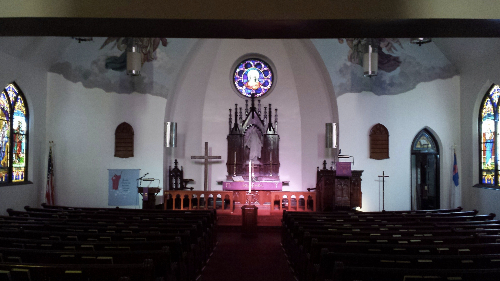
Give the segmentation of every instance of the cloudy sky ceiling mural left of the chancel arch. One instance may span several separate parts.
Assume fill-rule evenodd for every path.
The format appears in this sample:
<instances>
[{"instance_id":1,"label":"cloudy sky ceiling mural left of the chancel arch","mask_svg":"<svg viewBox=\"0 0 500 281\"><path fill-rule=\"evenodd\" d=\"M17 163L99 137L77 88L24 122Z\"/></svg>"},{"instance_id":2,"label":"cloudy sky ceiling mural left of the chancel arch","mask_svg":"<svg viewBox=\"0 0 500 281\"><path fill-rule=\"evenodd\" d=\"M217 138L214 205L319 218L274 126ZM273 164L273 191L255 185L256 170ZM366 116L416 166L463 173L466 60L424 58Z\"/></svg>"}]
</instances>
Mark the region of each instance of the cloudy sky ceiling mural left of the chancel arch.
<instances>
[{"instance_id":1,"label":"cloudy sky ceiling mural left of the chancel arch","mask_svg":"<svg viewBox=\"0 0 500 281\"><path fill-rule=\"evenodd\" d=\"M129 76L124 70L131 38L94 38L82 43L73 40L50 71L89 89L166 98L195 42L196 39L137 38L142 54L141 75Z\"/></svg>"}]
</instances>

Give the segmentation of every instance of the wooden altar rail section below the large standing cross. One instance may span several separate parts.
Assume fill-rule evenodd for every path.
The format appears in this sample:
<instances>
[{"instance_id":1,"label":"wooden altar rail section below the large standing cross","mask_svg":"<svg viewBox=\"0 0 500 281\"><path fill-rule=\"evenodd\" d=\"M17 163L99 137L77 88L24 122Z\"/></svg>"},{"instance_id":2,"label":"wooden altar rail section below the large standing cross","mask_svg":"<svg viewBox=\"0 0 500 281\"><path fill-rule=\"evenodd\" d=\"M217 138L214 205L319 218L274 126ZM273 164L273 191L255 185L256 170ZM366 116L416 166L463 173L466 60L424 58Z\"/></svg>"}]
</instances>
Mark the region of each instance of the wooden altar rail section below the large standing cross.
<instances>
[{"instance_id":1,"label":"wooden altar rail section below the large standing cross","mask_svg":"<svg viewBox=\"0 0 500 281\"><path fill-rule=\"evenodd\" d=\"M173 210L214 209L217 212L233 212L234 210L232 191L167 190L163 194L163 208L165 210L170 209L167 208L167 201L169 199L172 199Z\"/></svg>"}]
</instances>

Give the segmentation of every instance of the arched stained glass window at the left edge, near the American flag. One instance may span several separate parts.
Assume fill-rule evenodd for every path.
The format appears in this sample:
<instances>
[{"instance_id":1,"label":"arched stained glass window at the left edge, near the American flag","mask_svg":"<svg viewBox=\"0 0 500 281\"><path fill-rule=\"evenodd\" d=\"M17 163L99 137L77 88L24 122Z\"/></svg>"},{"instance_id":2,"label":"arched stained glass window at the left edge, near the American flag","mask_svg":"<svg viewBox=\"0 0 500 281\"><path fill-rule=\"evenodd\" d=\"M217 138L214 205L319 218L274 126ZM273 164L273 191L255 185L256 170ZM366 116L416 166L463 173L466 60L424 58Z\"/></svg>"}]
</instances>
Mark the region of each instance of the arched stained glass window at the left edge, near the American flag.
<instances>
[{"instance_id":1,"label":"arched stained glass window at the left edge, near the American flag","mask_svg":"<svg viewBox=\"0 0 500 281\"><path fill-rule=\"evenodd\" d=\"M0 95L0 184L28 181L28 105L15 83Z\"/></svg>"}]
</instances>

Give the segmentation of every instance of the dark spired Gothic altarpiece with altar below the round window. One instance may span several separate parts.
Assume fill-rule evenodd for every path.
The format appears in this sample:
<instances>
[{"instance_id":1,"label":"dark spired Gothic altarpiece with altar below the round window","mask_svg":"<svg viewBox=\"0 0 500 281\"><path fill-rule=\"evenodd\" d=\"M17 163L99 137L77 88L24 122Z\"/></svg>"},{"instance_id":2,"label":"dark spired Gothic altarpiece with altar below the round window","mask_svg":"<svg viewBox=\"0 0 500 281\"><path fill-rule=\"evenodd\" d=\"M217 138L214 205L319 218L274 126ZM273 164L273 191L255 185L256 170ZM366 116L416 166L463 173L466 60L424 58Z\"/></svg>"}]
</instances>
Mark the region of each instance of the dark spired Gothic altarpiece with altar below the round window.
<instances>
[{"instance_id":1,"label":"dark spired Gothic altarpiece with altar below the round window","mask_svg":"<svg viewBox=\"0 0 500 281\"><path fill-rule=\"evenodd\" d=\"M271 104L261 111L260 100L255 105L252 97L250 108L245 101L245 112L238 104L229 109L229 134L227 135L227 176L223 189L227 191L249 189L249 163L252 163L252 190L281 191L279 176L278 110L274 122Z\"/></svg>"}]
</instances>

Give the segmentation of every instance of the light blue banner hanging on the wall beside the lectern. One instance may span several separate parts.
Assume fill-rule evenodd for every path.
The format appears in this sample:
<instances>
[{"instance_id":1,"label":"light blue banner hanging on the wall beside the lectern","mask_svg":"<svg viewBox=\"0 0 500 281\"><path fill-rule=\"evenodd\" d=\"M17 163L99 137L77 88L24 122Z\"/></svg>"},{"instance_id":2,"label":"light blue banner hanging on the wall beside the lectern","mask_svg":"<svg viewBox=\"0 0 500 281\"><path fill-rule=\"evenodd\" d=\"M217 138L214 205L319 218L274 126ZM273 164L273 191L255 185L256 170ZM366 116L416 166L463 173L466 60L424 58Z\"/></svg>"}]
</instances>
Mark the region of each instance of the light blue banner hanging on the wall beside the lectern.
<instances>
[{"instance_id":1,"label":"light blue banner hanging on the wall beside the lectern","mask_svg":"<svg viewBox=\"0 0 500 281\"><path fill-rule=\"evenodd\" d=\"M140 169L109 169L108 206L139 205L137 179Z\"/></svg>"}]
</instances>

